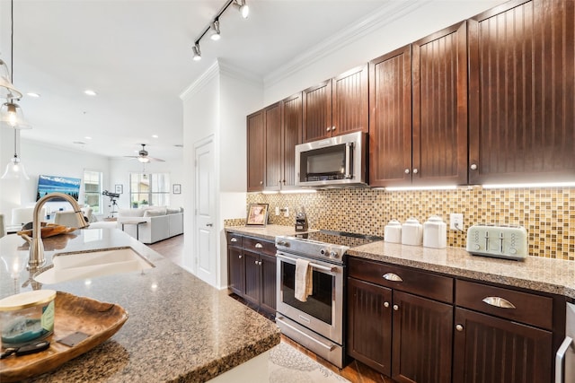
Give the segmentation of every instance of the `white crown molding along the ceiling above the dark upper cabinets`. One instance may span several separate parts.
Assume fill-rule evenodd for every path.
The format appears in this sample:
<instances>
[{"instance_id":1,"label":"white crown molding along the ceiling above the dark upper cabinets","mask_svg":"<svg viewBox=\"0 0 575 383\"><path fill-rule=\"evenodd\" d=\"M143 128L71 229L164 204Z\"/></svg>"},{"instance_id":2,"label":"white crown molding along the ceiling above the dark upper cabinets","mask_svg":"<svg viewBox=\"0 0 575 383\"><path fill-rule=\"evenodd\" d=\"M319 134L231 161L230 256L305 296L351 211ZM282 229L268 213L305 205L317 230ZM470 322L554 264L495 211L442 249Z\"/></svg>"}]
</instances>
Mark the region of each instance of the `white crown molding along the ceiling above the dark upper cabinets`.
<instances>
[{"instance_id":1,"label":"white crown molding along the ceiling above the dark upper cabinets","mask_svg":"<svg viewBox=\"0 0 575 383\"><path fill-rule=\"evenodd\" d=\"M267 88L279 83L288 76L296 74L306 66L327 57L332 53L341 50L342 47L349 46L353 42L366 36L373 30L383 28L386 24L402 18L404 15L413 12L423 4L430 3L431 0L409 0L409 1L390 1L375 13L372 13L362 21L341 30L332 35L329 39L317 44L314 48L307 50L300 56L295 57L286 65L280 66L274 72L264 77L263 83Z\"/></svg>"}]
</instances>

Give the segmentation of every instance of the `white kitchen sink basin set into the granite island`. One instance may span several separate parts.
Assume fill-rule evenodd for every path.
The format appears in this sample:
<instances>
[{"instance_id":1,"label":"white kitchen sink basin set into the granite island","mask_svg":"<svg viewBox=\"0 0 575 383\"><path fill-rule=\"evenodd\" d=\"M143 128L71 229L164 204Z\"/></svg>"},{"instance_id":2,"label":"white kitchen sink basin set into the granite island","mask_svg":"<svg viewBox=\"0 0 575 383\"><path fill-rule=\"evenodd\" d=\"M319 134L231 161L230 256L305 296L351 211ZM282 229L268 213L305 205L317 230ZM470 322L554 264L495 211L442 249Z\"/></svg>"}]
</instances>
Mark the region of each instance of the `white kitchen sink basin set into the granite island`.
<instances>
[{"instance_id":1,"label":"white kitchen sink basin set into the granite island","mask_svg":"<svg viewBox=\"0 0 575 383\"><path fill-rule=\"evenodd\" d=\"M52 264L49 269L34 276L34 280L45 284L61 283L155 267L133 248L61 253L52 257Z\"/></svg>"}]
</instances>

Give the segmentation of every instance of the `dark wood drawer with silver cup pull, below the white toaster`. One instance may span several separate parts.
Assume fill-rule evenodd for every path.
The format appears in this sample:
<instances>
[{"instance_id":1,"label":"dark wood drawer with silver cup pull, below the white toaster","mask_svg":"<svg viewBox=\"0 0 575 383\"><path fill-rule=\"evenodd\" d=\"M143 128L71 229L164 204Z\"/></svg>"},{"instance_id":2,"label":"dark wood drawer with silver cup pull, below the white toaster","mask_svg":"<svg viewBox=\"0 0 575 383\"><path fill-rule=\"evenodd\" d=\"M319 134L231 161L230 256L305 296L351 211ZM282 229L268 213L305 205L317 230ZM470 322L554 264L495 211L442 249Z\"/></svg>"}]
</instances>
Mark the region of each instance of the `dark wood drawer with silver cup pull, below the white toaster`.
<instances>
[{"instance_id":1,"label":"dark wood drawer with silver cup pull, below the white toaster","mask_svg":"<svg viewBox=\"0 0 575 383\"><path fill-rule=\"evenodd\" d=\"M491 304L486 301L490 298ZM527 325L553 327L553 299L528 292L457 280L456 305Z\"/></svg>"}]
</instances>

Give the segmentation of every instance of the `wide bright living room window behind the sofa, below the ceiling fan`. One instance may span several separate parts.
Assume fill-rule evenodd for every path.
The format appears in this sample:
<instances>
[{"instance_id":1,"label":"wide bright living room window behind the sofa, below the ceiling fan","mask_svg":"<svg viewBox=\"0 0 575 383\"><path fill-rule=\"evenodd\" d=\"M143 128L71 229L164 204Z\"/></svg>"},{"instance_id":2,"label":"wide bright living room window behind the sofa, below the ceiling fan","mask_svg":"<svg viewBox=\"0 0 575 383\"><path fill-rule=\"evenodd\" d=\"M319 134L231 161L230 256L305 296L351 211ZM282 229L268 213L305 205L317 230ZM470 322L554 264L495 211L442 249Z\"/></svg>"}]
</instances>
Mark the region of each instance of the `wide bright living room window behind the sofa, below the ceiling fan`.
<instances>
[{"instance_id":1,"label":"wide bright living room window behind the sofa, below the ceiling fan","mask_svg":"<svg viewBox=\"0 0 575 383\"><path fill-rule=\"evenodd\" d=\"M142 205L170 205L169 173L130 173L129 195L131 207Z\"/></svg>"}]
</instances>

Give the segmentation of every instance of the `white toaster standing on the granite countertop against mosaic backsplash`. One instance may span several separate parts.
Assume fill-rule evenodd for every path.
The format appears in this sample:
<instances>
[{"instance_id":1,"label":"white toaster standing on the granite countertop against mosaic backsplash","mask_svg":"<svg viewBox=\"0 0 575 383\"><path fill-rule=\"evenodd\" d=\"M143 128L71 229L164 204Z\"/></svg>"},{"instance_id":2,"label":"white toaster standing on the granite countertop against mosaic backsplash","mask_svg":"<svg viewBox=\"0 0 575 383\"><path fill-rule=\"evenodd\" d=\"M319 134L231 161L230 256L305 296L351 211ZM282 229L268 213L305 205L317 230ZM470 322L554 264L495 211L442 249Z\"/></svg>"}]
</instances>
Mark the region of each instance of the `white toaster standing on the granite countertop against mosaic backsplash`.
<instances>
[{"instance_id":1,"label":"white toaster standing on the granite countertop against mosaic backsplash","mask_svg":"<svg viewBox=\"0 0 575 383\"><path fill-rule=\"evenodd\" d=\"M474 256L525 259L527 231L522 226L478 224L467 230L466 250Z\"/></svg>"}]
</instances>

